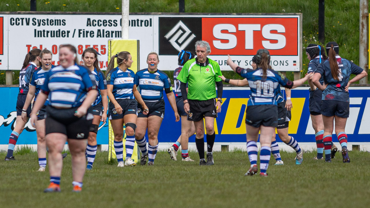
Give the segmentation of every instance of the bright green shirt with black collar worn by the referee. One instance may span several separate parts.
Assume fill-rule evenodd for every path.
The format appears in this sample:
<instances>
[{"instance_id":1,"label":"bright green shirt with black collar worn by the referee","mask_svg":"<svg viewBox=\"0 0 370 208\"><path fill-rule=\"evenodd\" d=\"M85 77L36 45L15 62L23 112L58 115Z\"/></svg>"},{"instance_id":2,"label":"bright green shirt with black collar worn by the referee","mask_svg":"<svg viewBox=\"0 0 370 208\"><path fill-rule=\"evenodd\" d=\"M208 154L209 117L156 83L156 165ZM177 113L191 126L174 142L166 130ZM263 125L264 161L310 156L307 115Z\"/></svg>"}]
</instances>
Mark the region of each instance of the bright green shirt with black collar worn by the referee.
<instances>
[{"instance_id":1,"label":"bright green shirt with black collar worn by the referee","mask_svg":"<svg viewBox=\"0 0 370 208\"><path fill-rule=\"evenodd\" d=\"M188 83L188 99L209 100L216 98L216 82L222 81L220 66L216 61L207 58L205 63L199 63L193 58L184 64L177 79Z\"/></svg>"}]
</instances>

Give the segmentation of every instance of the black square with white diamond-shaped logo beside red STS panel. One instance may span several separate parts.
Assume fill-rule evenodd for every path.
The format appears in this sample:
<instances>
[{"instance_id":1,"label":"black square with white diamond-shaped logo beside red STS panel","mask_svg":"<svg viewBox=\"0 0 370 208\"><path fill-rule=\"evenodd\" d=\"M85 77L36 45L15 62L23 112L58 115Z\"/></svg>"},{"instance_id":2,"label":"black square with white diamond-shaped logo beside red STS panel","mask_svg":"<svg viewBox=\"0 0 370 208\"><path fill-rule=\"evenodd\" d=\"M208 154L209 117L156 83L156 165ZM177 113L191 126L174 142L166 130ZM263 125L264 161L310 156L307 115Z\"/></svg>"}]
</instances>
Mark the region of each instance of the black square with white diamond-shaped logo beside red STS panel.
<instances>
[{"instance_id":1,"label":"black square with white diamond-shaped logo beside red STS panel","mask_svg":"<svg viewBox=\"0 0 370 208\"><path fill-rule=\"evenodd\" d=\"M194 53L195 42L202 39L202 18L159 17L159 55L178 55L181 50Z\"/></svg>"}]
</instances>

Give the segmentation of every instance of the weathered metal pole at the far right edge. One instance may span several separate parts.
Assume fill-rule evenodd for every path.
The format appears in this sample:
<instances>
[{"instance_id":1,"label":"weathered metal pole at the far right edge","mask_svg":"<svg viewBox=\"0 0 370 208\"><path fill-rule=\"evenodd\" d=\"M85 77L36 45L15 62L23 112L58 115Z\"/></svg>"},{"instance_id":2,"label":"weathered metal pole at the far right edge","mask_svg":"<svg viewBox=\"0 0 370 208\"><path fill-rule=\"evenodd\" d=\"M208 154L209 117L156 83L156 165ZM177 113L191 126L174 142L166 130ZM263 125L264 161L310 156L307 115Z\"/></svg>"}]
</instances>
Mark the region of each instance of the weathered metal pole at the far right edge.
<instances>
[{"instance_id":1,"label":"weathered metal pole at the far right edge","mask_svg":"<svg viewBox=\"0 0 370 208\"><path fill-rule=\"evenodd\" d=\"M360 0L360 48L359 66L365 71L369 68L369 11L368 0ZM360 84L367 84L367 76L359 81Z\"/></svg>"}]
</instances>

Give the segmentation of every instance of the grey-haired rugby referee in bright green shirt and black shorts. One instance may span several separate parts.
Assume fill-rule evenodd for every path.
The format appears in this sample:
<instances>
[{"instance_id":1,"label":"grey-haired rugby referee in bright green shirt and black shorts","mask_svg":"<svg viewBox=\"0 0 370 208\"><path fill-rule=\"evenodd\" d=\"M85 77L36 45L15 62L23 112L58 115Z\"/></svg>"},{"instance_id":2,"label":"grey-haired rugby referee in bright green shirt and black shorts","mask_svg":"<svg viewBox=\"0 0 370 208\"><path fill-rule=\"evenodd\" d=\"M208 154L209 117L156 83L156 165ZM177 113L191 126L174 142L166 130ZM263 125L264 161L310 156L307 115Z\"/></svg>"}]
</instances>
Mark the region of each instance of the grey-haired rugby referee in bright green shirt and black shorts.
<instances>
[{"instance_id":1,"label":"grey-haired rugby referee in bright green shirt and black shorts","mask_svg":"<svg viewBox=\"0 0 370 208\"><path fill-rule=\"evenodd\" d=\"M222 73L218 63L207 58L211 53L211 47L206 41L196 41L195 52L197 57L184 64L177 79L181 81L180 89L184 99L184 110L188 113L187 120L194 121L199 165L213 165L212 149L216 137L213 124L217 113L221 111L222 80L218 76L222 76ZM207 162L204 159L203 118L207 133Z\"/></svg>"}]
</instances>

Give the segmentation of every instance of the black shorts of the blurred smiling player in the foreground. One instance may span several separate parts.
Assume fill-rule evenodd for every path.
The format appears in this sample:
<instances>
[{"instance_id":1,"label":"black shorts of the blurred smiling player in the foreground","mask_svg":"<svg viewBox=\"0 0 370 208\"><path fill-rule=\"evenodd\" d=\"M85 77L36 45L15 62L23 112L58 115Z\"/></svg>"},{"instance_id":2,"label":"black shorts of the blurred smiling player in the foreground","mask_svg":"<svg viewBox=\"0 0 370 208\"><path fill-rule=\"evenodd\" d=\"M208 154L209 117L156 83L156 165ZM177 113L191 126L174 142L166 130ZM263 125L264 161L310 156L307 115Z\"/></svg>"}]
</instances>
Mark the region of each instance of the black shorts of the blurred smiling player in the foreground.
<instances>
[{"instance_id":1,"label":"black shorts of the blurred smiling player in the foreground","mask_svg":"<svg viewBox=\"0 0 370 208\"><path fill-rule=\"evenodd\" d=\"M74 115L77 108L57 109L48 105L45 134L60 133L67 135L68 139L87 139L94 115L91 114L91 108L89 108L86 115L78 118Z\"/></svg>"}]
</instances>

